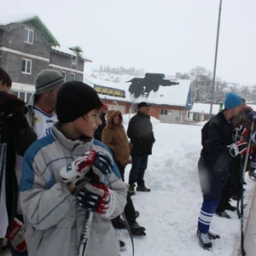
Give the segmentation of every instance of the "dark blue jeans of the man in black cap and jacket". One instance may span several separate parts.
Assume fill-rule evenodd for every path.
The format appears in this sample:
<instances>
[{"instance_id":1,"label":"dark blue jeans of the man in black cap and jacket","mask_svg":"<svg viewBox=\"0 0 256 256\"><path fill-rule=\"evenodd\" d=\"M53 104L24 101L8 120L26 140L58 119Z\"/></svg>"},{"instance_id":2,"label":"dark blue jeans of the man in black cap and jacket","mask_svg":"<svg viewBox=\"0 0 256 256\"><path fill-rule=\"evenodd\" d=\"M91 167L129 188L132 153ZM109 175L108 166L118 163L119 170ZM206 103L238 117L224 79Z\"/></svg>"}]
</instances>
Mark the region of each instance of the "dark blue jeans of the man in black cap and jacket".
<instances>
[{"instance_id":1,"label":"dark blue jeans of the man in black cap and jacket","mask_svg":"<svg viewBox=\"0 0 256 256\"><path fill-rule=\"evenodd\" d=\"M129 184L145 187L144 173L148 166L148 155L131 155L131 171L129 175Z\"/></svg>"}]
</instances>

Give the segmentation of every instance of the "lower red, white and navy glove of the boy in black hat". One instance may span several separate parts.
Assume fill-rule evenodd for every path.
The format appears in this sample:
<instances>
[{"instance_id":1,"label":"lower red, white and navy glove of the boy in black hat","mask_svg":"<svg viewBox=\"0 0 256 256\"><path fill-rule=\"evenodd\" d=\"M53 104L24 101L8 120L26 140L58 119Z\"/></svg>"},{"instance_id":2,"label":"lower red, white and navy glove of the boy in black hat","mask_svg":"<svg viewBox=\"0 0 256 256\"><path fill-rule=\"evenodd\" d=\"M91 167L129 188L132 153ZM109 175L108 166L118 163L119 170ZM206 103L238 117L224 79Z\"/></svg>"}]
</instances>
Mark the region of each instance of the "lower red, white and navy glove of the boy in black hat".
<instances>
[{"instance_id":1,"label":"lower red, white and navy glove of the boy in black hat","mask_svg":"<svg viewBox=\"0 0 256 256\"><path fill-rule=\"evenodd\" d=\"M111 190L102 183L85 183L84 189L78 191L77 204L90 211L110 216L113 213L113 196Z\"/></svg>"}]
</instances>

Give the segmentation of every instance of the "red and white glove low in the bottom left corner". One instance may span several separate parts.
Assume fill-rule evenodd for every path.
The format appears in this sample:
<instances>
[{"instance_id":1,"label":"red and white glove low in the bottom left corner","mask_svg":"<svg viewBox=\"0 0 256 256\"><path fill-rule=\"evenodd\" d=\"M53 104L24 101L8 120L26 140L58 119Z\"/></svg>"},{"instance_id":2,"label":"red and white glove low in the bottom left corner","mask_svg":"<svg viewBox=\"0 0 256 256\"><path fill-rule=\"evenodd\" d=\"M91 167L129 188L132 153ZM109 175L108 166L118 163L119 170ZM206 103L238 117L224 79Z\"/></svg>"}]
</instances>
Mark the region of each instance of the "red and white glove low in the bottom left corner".
<instances>
[{"instance_id":1,"label":"red and white glove low in the bottom left corner","mask_svg":"<svg viewBox=\"0 0 256 256\"><path fill-rule=\"evenodd\" d=\"M26 250L25 241L26 225L18 218L15 218L12 224L12 230L7 231L6 238L10 241L17 252L24 252Z\"/></svg>"}]
</instances>

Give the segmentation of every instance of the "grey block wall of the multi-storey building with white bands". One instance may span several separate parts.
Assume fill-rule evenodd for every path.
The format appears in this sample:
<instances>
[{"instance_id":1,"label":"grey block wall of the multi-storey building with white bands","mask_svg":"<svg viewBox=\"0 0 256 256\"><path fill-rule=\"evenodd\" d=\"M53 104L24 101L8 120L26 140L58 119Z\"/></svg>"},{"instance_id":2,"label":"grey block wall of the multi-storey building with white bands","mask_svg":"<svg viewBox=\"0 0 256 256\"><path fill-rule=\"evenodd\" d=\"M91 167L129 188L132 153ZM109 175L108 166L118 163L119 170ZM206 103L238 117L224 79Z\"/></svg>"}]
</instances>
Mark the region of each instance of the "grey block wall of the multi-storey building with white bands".
<instances>
[{"instance_id":1,"label":"grey block wall of the multi-storey building with white bands","mask_svg":"<svg viewBox=\"0 0 256 256\"><path fill-rule=\"evenodd\" d=\"M33 44L25 41L26 29L34 32ZM0 31L0 64L9 73L13 82L18 84L35 84L38 73L46 68L65 71L66 80L83 81L84 60L79 58L79 65L72 64L71 55L56 53L44 34L33 21L6 26ZM32 61L32 73L22 73L22 59Z\"/></svg>"}]
</instances>

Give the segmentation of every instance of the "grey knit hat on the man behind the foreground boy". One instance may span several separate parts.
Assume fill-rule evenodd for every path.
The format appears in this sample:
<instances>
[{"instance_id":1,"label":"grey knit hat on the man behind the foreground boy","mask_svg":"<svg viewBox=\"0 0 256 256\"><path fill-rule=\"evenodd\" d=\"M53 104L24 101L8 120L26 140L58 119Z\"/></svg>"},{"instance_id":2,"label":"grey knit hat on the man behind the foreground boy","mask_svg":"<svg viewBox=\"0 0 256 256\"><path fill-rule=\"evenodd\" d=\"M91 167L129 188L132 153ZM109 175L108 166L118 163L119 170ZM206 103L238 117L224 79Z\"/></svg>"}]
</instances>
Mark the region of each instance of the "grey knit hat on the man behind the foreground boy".
<instances>
[{"instance_id":1,"label":"grey knit hat on the man behind the foreground boy","mask_svg":"<svg viewBox=\"0 0 256 256\"><path fill-rule=\"evenodd\" d=\"M40 95L44 92L54 90L55 87L64 84L64 77L61 73L54 69L44 69L38 73L36 78L36 94Z\"/></svg>"}]
</instances>

